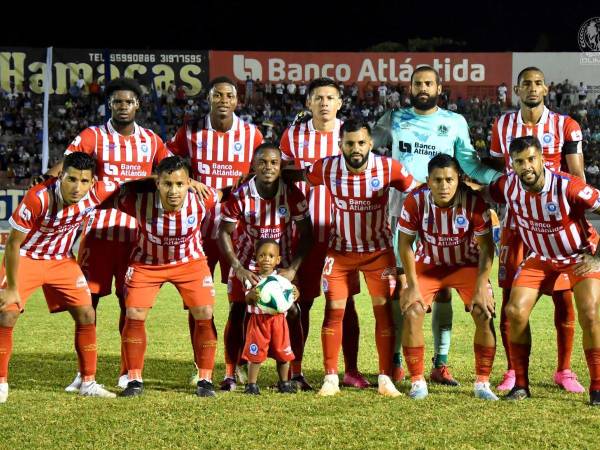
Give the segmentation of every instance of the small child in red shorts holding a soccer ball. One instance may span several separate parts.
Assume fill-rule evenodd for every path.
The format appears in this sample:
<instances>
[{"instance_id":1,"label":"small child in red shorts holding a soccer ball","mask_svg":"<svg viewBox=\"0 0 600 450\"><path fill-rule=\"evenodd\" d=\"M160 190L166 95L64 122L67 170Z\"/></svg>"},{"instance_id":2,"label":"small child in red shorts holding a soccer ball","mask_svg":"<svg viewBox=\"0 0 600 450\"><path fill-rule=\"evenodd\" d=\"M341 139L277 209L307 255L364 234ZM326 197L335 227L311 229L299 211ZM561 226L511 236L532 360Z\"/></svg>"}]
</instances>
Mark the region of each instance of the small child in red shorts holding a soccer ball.
<instances>
[{"instance_id":1,"label":"small child in red shorts holding a soccer ball","mask_svg":"<svg viewBox=\"0 0 600 450\"><path fill-rule=\"evenodd\" d=\"M258 388L258 371L260 365L272 357L277 362L279 382L277 389L284 394L296 393L295 386L288 379L290 361L294 360L294 353L290 347L290 333L285 319L285 310L298 298L298 290L283 277L274 277L275 268L281 262L279 244L274 239L261 239L256 244L256 263L258 275L265 280L248 291L246 302L250 319L246 328L246 343L243 358L248 361L248 384L245 394L260 394ZM272 279L272 281L271 281ZM268 284L279 283L277 286L283 294L277 302L275 296L266 292ZM284 286L283 283L287 284ZM261 292L261 290L263 292ZM267 298L269 297L269 298ZM274 304L273 304L274 303Z\"/></svg>"}]
</instances>

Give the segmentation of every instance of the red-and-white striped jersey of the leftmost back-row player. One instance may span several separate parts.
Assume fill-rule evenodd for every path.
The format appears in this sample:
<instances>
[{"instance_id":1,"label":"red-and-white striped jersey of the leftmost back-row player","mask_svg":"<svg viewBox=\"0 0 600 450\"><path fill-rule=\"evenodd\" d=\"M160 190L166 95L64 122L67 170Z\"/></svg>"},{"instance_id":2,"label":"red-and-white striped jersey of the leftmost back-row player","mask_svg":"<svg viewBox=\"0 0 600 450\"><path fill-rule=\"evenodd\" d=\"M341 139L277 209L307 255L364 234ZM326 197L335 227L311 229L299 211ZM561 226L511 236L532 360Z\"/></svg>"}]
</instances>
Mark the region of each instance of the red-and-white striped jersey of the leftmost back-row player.
<instances>
[{"instance_id":1,"label":"red-and-white striped jersey of the leftmost back-row player","mask_svg":"<svg viewBox=\"0 0 600 450\"><path fill-rule=\"evenodd\" d=\"M123 183L152 174L158 162L170 156L162 139L152 130L134 124L132 135L122 136L109 120L104 125L83 130L65 151L84 152L96 160L96 179ZM98 210L88 220L86 233L98 239L119 242L135 240L136 224L132 217L116 209Z\"/></svg>"}]
</instances>

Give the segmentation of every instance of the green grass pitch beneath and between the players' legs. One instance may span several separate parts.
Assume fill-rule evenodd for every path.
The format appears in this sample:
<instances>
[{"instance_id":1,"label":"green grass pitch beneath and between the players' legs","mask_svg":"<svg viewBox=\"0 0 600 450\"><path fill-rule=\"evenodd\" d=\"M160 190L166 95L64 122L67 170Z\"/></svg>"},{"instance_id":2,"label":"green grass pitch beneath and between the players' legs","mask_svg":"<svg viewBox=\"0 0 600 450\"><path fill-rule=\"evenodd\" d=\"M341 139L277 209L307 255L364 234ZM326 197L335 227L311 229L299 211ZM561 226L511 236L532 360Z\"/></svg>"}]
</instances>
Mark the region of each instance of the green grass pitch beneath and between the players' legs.
<instances>
[{"instance_id":1,"label":"green grass pitch beneath and between the players' legs","mask_svg":"<svg viewBox=\"0 0 600 450\"><path fill-rule=\"evenodd\" d=\"M363 288L363 292L366 289ZM499 291L496 291L499 307ZM361 321L359 366L377 379L374 321L368 298L358 297ZM276 381L273 361L261 371L260 397L239 391L199 399L187 382L192 353L187 318L171 286L163 287L148 319L146 392L136 399L100 400L63 392L75 373L73 324L68 314L50 315L41 291L27 304L15 328L9 401L0 407L0 448L592 448L600 410L587 394L566 394L552 385L556 362L551 300L544 297L532 317L531 400L518 404L472 396L474 327L454 296L450 364L458 388L430 386L430 396L381 398L374 389L344 389L334 398L314 393L281 396L266 389ZM215 380L223 375L222 330L225 287L217 289L219 352ZM323 300L313 309L305 373L322 380L320 324ZM116 298L102 300L98 317L98 379L112 387L119 369ZM430 329L429 318L426 330ZM430 332L427 355L431 356ZM505 369L498 345L492 383ZM577 330L573 369L589 378ZM402 390L407 392L408 383Z\"/></svg>"}]
</instances>

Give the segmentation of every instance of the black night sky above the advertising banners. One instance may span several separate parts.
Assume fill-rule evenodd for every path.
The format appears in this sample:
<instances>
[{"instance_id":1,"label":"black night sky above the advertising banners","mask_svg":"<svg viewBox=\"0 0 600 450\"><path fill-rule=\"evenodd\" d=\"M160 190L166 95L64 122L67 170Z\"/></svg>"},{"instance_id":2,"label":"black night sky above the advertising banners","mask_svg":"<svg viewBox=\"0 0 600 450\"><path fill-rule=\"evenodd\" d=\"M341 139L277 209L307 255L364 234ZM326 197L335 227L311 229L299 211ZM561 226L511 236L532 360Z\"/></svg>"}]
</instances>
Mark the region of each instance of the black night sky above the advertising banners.
<instances>
[{"instance_id":1,"label":"black night sky above the advertising banners","mask_svg":"<svg viewBox=\"0 0 600 450\"><path fill-rule=\"evenodd\" d=\"M579 27L600 16L598 1L136 3L81 2L32 16L3 6L0 45L364 51L439 37L438 51L579 51Z\"/></svg>"}]
</instances>

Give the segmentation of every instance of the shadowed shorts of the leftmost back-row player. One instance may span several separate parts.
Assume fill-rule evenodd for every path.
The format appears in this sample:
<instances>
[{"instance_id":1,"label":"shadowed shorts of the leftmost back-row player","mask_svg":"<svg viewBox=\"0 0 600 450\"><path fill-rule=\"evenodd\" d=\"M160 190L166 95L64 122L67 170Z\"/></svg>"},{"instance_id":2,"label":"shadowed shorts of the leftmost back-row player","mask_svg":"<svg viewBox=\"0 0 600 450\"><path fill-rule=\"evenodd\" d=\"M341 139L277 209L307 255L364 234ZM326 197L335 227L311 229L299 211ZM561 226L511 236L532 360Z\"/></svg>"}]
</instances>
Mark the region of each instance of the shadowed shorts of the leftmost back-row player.
<instances>
[{"instance_id":1,"label":"shadowed shorts of the leftmost back-row player","mask_svg":"<svg viewBox=\"0 0 600 450\"><path fill-rule=\"evenodd\" d=\"M110 295L114 277L115 292L118 297L123 295L125 272L134 247L135 242L97 239L93 231L81 240L77 261L92 294Z\"/></svg>"}]
</instances>

